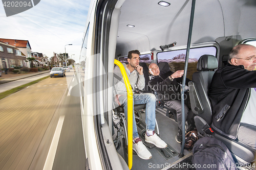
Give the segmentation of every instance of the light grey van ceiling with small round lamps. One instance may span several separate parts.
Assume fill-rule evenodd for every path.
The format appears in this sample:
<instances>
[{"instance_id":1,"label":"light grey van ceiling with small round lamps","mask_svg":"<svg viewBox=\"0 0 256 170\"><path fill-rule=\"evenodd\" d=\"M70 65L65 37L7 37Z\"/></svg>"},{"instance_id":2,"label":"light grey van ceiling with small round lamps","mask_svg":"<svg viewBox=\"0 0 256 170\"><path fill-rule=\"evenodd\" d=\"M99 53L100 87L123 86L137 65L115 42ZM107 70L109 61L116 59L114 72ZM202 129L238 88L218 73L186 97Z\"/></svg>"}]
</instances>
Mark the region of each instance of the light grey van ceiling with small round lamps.
<instances>
[{"instance_id":1,"label":"light grey van ceiling with small round lamps","mask_svg":"<svg viewBox=\"0 0 256 170\"><path fill-rule=\"evenodd\" d=\"M160 1L160 0L159 0ZM126 0L120 13L117 55L138 49L148 53L160 45L187 43L191 1ZM256 3L253 0L196 0L191 44L215 41L218 37L241 35L255 37ZM135 27L127 27L134 25Z\"/></svg>"}]
</instances>

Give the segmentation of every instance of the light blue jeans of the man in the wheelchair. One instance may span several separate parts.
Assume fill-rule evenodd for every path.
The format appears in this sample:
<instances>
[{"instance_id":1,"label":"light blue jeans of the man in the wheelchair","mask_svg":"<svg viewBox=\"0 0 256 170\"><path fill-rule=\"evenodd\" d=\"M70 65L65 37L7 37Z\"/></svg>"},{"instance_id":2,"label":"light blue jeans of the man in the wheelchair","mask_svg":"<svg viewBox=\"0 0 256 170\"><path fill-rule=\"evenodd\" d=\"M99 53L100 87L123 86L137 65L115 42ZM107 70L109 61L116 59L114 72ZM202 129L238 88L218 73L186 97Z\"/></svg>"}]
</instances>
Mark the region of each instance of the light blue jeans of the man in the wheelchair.
<instances>
[{"instance_id":1,"label":"light blue jeans of the man in the wheelchair","mask_svg":"<svg viewBox=\"0 0 256 170\"><path fill-rule=\"evenodd\" d=\"M119 102L123 106L124 114L127 119L127 96L122 95L119 97ZM146 130L154 131L156 126L156 97L152 93L133 94L133 104L146 104ZM139 137L137 126L135 122L133 110L133 139Z\"/></svg>"}]
</instances>

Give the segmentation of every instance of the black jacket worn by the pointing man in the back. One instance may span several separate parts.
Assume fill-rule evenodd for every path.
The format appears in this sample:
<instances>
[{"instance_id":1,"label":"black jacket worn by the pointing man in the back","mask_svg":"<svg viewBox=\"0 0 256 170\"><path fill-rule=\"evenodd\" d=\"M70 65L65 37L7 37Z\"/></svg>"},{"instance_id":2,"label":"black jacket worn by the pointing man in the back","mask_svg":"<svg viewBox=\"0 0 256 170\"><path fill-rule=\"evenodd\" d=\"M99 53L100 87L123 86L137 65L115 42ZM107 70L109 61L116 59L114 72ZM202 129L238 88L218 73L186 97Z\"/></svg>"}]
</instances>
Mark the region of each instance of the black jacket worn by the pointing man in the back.
<instances>
[{"instance_id":1,"label":"black jacket worn by the pointing man in the back","mask_svg":"<svg viewBox=\"0 0 256 170\"><path fill-rule=\"evenodd\" d=\"M168 71L165 74L159 76L152 76L151 80L148 82L148 86L154 91L157 91L159 100L169 101L169 100L181 100L181 84L182 79L176 78L173 81L168 77L174 74L172 71ZM186 79L186 85L189 79ZM161 95L159 95L161 94Z\"/></svg>"}]
</instances>

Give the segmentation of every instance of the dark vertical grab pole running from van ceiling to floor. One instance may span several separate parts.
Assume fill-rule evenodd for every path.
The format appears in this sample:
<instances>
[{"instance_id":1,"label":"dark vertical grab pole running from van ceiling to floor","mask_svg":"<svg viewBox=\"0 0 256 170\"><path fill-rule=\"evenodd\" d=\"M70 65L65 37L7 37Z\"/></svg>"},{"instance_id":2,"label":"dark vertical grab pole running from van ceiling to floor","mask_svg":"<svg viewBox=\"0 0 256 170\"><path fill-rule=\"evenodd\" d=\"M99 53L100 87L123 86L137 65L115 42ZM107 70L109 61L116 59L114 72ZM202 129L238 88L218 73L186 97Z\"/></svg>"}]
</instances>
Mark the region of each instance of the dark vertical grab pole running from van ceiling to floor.
<instances>
[{"instance_id":1,"label":"dark vertical grab pole running from van ceiling to floor","mask_svg":"<svg viewBox=\"0 0 256 170\"><path fill-rule=\"evenodd\" d=\"M183 157L184 154L184 145L185 145L185 103L184 103L184 88L186 84L186 76L187 76L187 65L188 65L188 57L189 57L189 49L190 49L190 43L191 43L191 35L192 35L192 29L193 29L193 21L194 21L194 13L195 13L195 5L196 0L192 1L191 5L191 13L190 13L190 22L189 22L189 30L188 30L188 38L187 38L187 50L186 50L186 59L185 59L185 66L184 66L184 75L182 80L182 90L181 90L181 114L182 114L182 145L181 145L181 151L179 157Z\"/></svg>"}]
</instances>

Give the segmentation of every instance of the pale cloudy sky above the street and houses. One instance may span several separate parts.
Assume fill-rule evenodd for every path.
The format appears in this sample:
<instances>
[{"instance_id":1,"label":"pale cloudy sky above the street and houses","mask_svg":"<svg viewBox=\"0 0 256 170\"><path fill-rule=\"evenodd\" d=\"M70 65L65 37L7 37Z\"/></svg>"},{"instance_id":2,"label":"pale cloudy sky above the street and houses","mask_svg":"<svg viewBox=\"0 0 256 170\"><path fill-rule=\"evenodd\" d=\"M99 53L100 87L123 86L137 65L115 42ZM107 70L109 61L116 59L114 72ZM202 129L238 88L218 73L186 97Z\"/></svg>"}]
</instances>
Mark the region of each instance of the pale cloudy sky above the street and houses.
<instances>
[{"instance_id":1,"label":"pale cloudy sky above the street and houses","mask_svg":"<svg viewBox=\"0 0 256 170\"><path fill-rule=\"evenodd\" d=\"M33 52L75 54L78 62L90 0L41 0L22 13L6 17L0 3L0 38L28 40Z\"/></svg>"}]
</instances>

